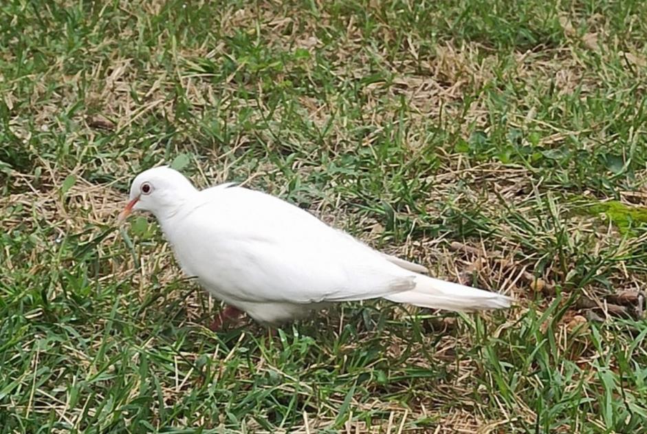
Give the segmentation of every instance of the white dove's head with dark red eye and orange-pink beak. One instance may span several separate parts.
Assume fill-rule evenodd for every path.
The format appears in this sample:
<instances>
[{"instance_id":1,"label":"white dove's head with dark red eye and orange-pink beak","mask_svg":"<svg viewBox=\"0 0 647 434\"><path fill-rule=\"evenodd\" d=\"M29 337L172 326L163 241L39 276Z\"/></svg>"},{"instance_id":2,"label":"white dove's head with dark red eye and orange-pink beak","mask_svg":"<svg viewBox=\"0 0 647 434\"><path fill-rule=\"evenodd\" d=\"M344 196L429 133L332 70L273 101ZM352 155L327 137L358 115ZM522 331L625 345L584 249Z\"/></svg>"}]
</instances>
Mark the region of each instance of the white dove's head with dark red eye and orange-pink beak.
<instances>
[{"instance_id":1,"label":"white dove's head with dark red eye and orange-pink beak","mask_svg":"<svg viewBox=\"0 0 647 434\"><path fill-rule=\"evenodd\" d=\"M133 210L149 211L163 219L175 213L197 190L191 182L168 166L154 167L137 175L127 206L118 217L122 222Z\"/></svg>"}]
</instances>

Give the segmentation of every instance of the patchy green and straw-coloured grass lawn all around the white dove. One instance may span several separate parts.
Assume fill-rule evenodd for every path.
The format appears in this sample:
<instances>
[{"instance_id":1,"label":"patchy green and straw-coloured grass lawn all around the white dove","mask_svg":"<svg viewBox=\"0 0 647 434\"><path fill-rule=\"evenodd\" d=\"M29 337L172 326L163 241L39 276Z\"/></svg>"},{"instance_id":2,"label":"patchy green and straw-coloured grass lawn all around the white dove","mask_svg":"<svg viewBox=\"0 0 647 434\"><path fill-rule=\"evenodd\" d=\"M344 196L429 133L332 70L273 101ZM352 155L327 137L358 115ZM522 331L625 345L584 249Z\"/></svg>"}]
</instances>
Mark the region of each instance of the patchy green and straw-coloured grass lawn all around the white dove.
<instances>
[{"instance_id":1,"label":"patchy green and straw-coloured grass lawn all around the white dove","mask_svg":"<svg viewBox=\"0 0 647 434\"><path fill-rule=\"evenodd\" d=\"M647 423L647 5L0 5L0 431L628 433ZM8 47L8 49L7 49ZM348 303L214 334L166 162L509 312Z\"/></svg>"}]
</instances>

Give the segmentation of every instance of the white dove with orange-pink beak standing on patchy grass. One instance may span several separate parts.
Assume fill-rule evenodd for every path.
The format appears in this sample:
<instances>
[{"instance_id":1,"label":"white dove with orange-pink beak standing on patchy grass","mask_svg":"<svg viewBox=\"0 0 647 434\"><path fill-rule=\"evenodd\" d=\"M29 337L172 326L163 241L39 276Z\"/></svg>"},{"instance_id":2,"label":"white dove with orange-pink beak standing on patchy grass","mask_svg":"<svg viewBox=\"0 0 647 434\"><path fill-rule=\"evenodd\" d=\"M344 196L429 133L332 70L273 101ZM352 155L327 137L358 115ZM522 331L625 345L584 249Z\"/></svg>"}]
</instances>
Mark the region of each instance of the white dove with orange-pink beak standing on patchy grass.
<instances>
[{"instance_id":1,"label":"white dove with orange-pink beak standing on patchy grass","mask_svg":"<svg viewBox=\"0 0 647 434\"><path fill-rule=\"evenodd\" d=\"M119 221L131 210L155 215L188 276L267 325L342 301L382 298L463 312L512 301L420 274L426 268L373 250L278 197L234 184L199 191L167 166L135 177Z\"/></svg>"}]
</instances>

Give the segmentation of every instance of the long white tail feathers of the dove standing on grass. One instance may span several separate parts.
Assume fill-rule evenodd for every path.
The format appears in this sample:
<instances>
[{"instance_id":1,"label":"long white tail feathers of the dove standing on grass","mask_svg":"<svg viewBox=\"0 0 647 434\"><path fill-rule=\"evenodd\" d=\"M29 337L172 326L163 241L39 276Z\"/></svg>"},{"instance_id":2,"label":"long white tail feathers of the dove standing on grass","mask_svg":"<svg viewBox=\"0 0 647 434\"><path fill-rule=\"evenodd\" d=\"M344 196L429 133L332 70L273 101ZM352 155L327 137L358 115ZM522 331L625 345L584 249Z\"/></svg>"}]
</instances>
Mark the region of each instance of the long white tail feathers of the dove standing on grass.
<instances>
[{"instance_id":1,"label":"long white tail feathers of the dove standing on grass","mask_svg":"<svg viewBox=\"0 0 647 434\"><path fill-rule=\"evenodd\" d=\"M419 275L412 290L397 292L384 297L396 303L408 303L431 309L454 312L475 312L477 310L503 309L510 307L512 299L496 292L433 279Z\"/></svg>"}]
</instances>

